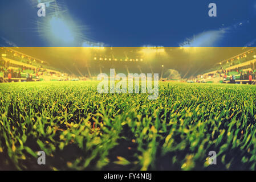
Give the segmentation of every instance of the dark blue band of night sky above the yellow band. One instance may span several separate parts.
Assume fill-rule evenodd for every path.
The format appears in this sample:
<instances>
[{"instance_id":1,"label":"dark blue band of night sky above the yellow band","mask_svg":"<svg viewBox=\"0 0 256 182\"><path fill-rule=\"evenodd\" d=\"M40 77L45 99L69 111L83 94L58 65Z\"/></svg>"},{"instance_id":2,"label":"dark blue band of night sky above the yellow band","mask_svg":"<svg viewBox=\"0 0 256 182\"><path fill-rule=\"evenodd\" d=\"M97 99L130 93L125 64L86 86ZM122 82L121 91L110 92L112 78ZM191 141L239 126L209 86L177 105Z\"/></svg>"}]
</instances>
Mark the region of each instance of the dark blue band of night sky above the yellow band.
<instances>
[{"instance_id":1,"label":"dark blue band of night sky above the yellow band","mask_svg":"<svg viewBox=\"0 0 256 182\"><path fill-rule=\"evenodd\" d=\"M208 16L210 2L217 5L217 17ZM0 2L2 46L255 46L255 0L56 0L60 13L50 3L41 18L36 4L36 0ZM48 37L48 22L56 12L69 22L74 40Z\"/></svg>"}]
</instances>

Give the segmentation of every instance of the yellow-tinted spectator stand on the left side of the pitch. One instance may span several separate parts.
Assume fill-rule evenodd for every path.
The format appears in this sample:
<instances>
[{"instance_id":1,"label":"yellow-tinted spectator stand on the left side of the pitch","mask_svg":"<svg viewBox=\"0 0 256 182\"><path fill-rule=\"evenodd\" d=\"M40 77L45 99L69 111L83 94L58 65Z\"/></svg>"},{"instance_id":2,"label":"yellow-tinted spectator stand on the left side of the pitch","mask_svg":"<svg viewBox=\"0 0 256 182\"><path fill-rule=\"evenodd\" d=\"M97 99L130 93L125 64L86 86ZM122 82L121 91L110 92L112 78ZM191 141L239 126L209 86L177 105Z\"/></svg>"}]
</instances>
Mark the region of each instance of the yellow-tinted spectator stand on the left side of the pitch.
<instances>
[{"instance_id":1,"label":"yellow-tinted spectator stand on the left side of the pitch","mask_svg":"<svg viewBox=\"0 0 256 182\"><path fill-rule=\"evenodd\" d=\"M70 80L67 73L10 48L0 49L0 82Z\"/></svg>"}]
</instances>

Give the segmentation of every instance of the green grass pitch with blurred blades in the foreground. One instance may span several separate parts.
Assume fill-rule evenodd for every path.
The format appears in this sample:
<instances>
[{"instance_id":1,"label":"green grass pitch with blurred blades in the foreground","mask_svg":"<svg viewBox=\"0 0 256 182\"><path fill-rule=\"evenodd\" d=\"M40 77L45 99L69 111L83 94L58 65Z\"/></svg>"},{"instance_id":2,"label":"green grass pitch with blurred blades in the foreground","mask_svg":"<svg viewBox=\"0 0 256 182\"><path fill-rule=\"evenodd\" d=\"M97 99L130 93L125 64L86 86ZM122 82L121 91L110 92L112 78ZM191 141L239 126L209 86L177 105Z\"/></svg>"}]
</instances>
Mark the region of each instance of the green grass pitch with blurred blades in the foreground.
<instances>
[{"instance_id":1,"label":"green grass pitch with blurred blades in the foreground","mask_svg":"<svg viewBox=\"0 0 256 182\"><path fill-rule=\"evenodd\" d=\"M160 82L157 100L96 86L1 84L0 169L256 169L256 86Z\"/></svg>"}]
</instances>

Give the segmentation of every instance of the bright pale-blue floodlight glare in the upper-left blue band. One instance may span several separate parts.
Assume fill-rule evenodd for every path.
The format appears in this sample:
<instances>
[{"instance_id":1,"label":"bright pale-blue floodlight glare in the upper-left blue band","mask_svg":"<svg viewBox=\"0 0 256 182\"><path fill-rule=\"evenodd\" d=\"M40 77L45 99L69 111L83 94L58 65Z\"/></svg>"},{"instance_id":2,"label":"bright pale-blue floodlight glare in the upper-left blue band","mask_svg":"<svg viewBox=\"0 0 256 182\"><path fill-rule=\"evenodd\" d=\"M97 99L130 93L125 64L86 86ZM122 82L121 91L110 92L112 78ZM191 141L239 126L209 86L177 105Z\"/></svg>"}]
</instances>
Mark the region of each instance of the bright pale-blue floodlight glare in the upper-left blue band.
<instances>
[{"instance_id":1,"label":"bright pale-blue floodlight glare in the upper-left blue band","mask_svg":"<svg viewBox=\"0 0 256 182\"><path fill-rule=\"evenodd\" d=\"M74 40L70 27L68 27L68 24L64 22L64 20L52 17L50 25L51 32L55 38L63 40L64 42L72 42Z\"/></svg>"}]
</instances>

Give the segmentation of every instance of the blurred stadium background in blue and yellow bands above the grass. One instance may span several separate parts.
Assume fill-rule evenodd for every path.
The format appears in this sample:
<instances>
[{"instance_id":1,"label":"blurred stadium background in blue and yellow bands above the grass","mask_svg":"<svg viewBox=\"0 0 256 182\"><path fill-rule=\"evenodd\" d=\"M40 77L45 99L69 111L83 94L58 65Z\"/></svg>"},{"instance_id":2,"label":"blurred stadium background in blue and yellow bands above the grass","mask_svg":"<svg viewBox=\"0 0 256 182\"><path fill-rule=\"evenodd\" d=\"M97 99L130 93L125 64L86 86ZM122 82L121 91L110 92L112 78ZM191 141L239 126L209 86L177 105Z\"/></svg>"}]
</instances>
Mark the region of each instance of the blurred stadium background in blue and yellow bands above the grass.
<instances>
[{"instance_id":1,"label":"blurred stadium background in blue and yellow bands above the grass","mask_svg":"<svg viewBox=\"0 0 256 182\"><path fill-rule=\"evenodd\" d=\"M163 81L254 76L256 1L216 0L217 17L209 17L209 3L2 1L1 80L9 72L11 81L94 80L110 68L159 73Z\"/></svg>"}]
</instances>

